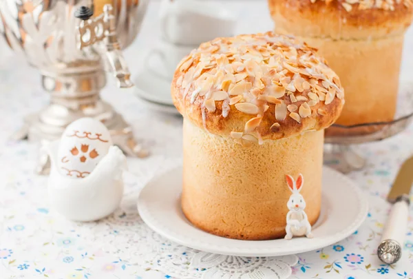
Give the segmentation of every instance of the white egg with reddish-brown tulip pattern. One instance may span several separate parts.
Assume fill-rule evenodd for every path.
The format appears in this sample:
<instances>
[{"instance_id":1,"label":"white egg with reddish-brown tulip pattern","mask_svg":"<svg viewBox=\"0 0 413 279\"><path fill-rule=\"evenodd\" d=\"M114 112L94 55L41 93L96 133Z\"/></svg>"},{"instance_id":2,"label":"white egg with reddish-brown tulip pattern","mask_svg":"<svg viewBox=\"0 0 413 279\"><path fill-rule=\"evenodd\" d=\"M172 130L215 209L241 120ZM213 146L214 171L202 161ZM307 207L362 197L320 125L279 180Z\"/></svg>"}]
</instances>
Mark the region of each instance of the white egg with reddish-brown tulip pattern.
<instances>
[{"instance_id":1,"label":"white egg with reddish-brown tulip pattern","mask_svg":"<svg viewBox=\"0 0 413 279\"><path fill-rule=\"evenodd\" d=\"M70 178L85 178L106 156L112 138L94 118L80 118L63 132L57 152L57 169Z\"/></svg>"}]
</instances>

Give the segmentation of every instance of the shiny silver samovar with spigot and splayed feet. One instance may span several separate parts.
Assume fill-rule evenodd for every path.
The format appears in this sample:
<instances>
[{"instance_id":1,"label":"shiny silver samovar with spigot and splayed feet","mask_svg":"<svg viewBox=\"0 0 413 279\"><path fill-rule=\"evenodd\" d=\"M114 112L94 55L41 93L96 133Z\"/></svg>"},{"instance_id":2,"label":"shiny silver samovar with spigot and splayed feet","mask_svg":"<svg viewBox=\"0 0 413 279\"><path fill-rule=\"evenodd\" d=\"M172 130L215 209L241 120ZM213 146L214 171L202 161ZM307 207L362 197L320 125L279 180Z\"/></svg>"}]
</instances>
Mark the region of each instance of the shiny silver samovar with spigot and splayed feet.
<instances>
[{"instance_id":1,"label":"shiny silver samovar with spigot and splayed feet","mask_svg":"<svg viewBox=\"0 0 413 279\"><path fill-rule=\"evenodd\" d=\"M81 117L102 121L126 154L143 156L131 127L100 99L106 72L131 87L121 48L134 41L147 0L0 0L0 34L41 72L50 104L25 118L14 136L52 141ZM47 172L41 157L39 172Z\"/></svg>"}]
</instances>

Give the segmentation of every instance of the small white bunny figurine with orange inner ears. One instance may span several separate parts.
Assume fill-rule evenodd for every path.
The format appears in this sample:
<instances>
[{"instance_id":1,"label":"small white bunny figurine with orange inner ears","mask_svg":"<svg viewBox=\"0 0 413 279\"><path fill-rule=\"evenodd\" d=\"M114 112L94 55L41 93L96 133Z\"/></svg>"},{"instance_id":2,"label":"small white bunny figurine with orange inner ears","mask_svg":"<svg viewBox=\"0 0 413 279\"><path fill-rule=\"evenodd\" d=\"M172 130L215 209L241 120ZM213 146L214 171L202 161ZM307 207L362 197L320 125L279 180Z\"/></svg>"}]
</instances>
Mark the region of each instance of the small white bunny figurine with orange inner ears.
<instances>
[{"instance_id":1,"label":"small white bunny figurine with orange inner ears","mask_svg":"<svg viewBox=\"0 0 413 279\"><path fill-rule=\"evenodd\" d=\"M304 177L299 174L297 181L293 177L286 175L288 188L293 194L291 194L288 200L287 207L290 209L287 214L286 236L285 239L291 239L293 236L306 236L313 238L311 234L311 225L308 222L308 217L304 209L306 208L306 201L303 196L299 194L303 185Z\"/></svg>"}]
</instances>

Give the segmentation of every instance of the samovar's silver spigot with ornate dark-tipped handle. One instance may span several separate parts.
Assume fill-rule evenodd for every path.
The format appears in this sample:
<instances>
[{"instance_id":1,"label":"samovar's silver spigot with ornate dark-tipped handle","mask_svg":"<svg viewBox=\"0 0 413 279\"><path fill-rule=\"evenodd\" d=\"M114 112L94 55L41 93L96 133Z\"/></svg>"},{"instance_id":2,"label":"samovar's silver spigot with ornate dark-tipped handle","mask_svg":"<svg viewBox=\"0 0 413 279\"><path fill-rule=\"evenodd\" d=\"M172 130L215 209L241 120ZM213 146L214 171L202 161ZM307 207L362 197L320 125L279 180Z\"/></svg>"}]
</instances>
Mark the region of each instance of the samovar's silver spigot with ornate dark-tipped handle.
<instances>
[{"instance_id":1,"label":"samovar's silver spigot with ornate dark-tipped handle","mask_svg":"<svg viewBox=\"0 0 413 279\"><path fill-rule=\"evenodd\" d=\"M93 12L85 6L76 10L74 15L81 19L78 26L80 35L78 48L82 50L96 42L103 41L105 56L109 61L111 72L114 73L118 81L118 86L121 88L132 87L134 84L130 81L131 74L116 37L116 19L112 5L103 6L103 14L95 19L91 19Z\"/></svg>"}]
</instances>

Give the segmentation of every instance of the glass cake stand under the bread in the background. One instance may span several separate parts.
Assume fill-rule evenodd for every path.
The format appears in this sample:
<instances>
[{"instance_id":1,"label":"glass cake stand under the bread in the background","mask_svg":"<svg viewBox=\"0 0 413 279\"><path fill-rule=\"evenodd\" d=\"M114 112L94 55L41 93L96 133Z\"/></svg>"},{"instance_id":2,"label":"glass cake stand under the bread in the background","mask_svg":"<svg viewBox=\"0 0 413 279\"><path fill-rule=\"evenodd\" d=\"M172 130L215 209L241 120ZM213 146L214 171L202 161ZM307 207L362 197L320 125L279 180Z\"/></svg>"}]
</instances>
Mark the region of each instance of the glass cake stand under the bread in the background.
<instances>
[{"instance_id":1,"label":"glass cake stand under the bread in the background","mask_svg":"<svg viewBox=\"0 0 413 279\"><path fill-rule=\"evenodd\" d=\"M345 174L363 169L366 158L357 152L357 145L390 138L412 123L413 80L401 79L399 87L396 114L392 121L350 126L333 124L326 130L324 164Z\"/></svg>"}]
</instances>

